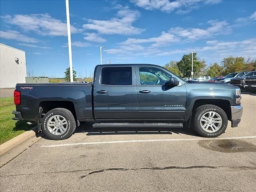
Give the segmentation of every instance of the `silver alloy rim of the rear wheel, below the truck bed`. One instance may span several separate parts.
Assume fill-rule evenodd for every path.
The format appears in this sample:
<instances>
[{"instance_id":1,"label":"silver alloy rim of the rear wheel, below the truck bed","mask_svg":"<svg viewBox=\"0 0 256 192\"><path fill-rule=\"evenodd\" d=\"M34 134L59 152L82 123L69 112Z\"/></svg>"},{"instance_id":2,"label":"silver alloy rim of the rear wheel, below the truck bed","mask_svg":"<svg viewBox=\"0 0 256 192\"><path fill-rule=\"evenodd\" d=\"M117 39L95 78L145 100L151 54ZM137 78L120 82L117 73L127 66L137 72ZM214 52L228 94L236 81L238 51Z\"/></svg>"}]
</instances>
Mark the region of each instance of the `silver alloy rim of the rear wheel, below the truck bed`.
<instances>
[{"instance_id":1,"label":"silver alloy rim of the rear wheel, below the truck bed","mask_svg":"<svg viewBox=\"0 0 256 192\"><path fill-rule=\"evenodd\" d=\"M68 122L63 116L54 115L49 118L47 128L51 134L62 135L68 128Z\"/></svg>"}]
</instances>

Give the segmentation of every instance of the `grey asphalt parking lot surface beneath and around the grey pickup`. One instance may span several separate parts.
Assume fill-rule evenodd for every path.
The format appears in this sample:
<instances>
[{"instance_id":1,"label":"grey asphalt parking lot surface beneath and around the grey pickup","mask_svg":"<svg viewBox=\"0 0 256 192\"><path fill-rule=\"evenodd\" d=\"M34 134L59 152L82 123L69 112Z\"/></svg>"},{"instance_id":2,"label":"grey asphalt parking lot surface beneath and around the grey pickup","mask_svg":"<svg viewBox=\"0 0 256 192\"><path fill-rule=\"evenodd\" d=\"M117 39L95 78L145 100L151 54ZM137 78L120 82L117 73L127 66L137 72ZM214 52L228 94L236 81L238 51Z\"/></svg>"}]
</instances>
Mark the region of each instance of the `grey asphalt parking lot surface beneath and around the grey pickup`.
<instances>
[{"instance_id":1,"label":"grey asphalt parking lot surface beneath and around the grey pickup","mask_svg":"<svg viewBox=\"0 0 256 192\"><path fill-rule=\"evenodd\" d=\"M217 139L186 129L101 129L42 138L0 168L1 191L255 191L256 95Z\"/></svg>"}]
</instances>

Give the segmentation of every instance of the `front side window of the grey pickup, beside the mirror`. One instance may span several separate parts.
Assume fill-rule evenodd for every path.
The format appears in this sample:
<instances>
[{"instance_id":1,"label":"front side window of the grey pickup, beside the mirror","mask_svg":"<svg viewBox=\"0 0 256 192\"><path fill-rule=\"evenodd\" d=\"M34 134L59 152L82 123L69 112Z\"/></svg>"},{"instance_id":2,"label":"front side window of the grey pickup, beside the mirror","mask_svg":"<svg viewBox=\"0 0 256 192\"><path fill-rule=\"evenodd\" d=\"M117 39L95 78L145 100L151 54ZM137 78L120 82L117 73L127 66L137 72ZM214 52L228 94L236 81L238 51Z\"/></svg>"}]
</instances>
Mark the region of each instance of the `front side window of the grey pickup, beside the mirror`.
<instances>
[{"instance_id":1,"label":"front side window of the grey pickup, beside the mirror","mask_svg":"<svg viewBox=\"0 0 256 192\"><path fill-rule=\"evenodd\" d=\"M141 85L164 85L170 80L171 75L152 67L140 68Z\"/></svg>"}]
</instances>

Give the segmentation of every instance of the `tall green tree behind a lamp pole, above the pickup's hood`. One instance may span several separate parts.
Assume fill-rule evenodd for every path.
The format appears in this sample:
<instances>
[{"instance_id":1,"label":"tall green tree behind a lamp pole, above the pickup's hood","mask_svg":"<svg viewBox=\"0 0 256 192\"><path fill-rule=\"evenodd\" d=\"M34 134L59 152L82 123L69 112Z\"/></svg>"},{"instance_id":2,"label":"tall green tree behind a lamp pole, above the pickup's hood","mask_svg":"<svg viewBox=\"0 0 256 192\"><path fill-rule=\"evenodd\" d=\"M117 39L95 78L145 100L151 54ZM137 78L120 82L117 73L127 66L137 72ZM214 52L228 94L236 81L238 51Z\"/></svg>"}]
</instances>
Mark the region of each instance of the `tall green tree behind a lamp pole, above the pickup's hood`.
<instances>
[{"instance_id":1,"label":"tall green tree behind a lamp pole, above the pickup's hood","mask_svg":"<svg viewBox=\"0 0 256 192\"><path fill-rule=\"evenodd\" d=\"M206 64L204 60L201 61L199 59L200 58L196 56L196 53L193 53L194 76L204 75ZM192 69L192 55L183 55L182 59L177 62L177 67L180 70L182 77L190 77Z\"/></svg>"}]
</instances>

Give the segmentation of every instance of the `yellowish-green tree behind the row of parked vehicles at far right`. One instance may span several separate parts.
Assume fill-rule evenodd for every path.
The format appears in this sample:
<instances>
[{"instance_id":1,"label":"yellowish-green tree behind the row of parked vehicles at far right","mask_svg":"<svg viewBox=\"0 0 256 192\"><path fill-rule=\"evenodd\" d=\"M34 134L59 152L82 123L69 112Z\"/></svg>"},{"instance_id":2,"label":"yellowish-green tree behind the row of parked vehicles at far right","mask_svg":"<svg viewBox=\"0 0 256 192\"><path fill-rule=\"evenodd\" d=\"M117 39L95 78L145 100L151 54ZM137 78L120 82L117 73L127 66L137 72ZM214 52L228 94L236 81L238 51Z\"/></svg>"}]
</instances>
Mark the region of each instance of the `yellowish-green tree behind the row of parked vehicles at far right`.
<instances>
[{"instance_id":1,"label":"yellowish-green tree behind the row of parked vehicles at far right","mask_svg":"<svg viewBox=\"0 0 256 192\"><path fill-rule=\"evenodd\" d=\"M232 72L240 72L246 69L246 64L243 57L227 57L221 62L224 67L224 75Z\"/></svg>"}]
</instances>

